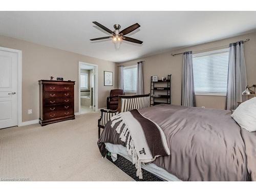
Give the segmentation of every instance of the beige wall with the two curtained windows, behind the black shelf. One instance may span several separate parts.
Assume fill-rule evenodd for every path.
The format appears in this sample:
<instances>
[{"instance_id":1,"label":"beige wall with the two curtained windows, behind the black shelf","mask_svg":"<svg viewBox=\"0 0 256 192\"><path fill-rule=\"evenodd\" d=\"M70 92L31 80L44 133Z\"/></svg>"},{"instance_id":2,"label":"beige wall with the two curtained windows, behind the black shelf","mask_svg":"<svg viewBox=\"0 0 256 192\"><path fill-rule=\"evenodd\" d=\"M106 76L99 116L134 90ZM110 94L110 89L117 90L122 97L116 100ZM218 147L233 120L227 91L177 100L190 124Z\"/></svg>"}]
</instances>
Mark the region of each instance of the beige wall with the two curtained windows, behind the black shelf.
<instances>
[{"instance_id":1,"label":"beige wall with the two curtained windows, behind the black shelf","mask_svg":"<svg viewBox=\"0 0 256 192\"><path fill-rule=\"evenodd\" d=\"M228 48L230 42L235 42L238 40L244 40L250 38L249 41L245 42L245 61L246 61L246 71L248 84L256 83L256 33L250 33L247 35L241 35L237 37L227 38L219 41L209 42L207 44L187 47L184 49L179 49L175 51L170 51L166 53L161 53L153 56L148 56L144 58L139 58L132 61L127 61L117 64L120 65L134 65L139 60L145 60L143 66L143 76L144 76L144 90L145 93L150 93L150 78L151 76L163 77L167 74L172 74L172 103L181 103L181 74L182 74L182 54L177 56L172 56L171 54L180 53L184 51L193 51L194 53L211 51L217 49ZM220 46L215 49L207 49L204 51L198 51L210 47ZM118 70L118 67L117 69ZM116 76L117 79L118 76ZM205 106L206 108L216 108L225 109L225 96L196 96L197 106Z\"/></svg>"}]
</instances>

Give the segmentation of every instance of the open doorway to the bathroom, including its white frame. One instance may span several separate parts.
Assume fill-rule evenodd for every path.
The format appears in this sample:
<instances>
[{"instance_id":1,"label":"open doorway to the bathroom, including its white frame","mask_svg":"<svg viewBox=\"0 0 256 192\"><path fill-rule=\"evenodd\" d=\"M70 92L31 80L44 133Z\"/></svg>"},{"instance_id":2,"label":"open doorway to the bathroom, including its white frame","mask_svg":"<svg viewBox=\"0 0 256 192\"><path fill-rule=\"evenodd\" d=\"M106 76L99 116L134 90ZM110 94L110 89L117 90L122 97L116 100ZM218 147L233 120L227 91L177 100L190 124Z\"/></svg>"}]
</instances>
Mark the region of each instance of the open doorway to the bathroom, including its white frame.
<instances>
[{"instance_id":1,"label":"open doorway to the bathroom, including its white frame","mask_svg":"<svg viewBox=\"0 0 256 192\"><path fill-rule=\"evenodd\" d=\"M98 109L98 66L79 61L79 114Z\"/></svg>"}]
</instances>

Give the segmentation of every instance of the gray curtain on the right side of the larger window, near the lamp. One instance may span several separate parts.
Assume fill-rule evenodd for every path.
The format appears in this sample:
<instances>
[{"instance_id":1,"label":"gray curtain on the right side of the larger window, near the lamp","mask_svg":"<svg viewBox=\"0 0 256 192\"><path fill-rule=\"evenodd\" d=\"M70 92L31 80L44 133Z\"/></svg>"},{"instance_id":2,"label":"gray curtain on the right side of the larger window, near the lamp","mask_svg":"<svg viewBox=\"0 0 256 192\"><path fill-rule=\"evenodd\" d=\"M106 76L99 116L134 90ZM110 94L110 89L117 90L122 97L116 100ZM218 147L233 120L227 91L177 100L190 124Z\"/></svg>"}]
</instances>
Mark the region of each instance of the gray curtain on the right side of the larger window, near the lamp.
<instances>
[{"instance_id":1,"label":"gray curtain on the right side of the larger window, near the lamp","mask_svg":"<svg viewBox=\"0 0 256 192\"><path fill-rule=\"evenodd\" d=\"M226 110L234 110L242 101L242 92L247 86L244 41L229 44Z\"/></svg>"}]
</instances>

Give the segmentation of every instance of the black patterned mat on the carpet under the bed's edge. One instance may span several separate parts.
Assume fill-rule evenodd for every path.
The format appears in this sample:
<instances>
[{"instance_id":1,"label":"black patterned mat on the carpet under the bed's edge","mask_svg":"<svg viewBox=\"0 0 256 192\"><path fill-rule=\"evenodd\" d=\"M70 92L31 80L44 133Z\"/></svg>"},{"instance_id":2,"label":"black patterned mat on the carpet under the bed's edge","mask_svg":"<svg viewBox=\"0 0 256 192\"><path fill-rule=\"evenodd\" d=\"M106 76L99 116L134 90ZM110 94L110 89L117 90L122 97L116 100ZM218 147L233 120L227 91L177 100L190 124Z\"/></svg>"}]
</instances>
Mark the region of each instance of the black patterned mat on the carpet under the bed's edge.
<instances>
[{"instance_id":1,"label":"black patterned mat on the carpet under the bed's edge","mask_svg":"<svg viewBox=\"0 0 256 192\"><path fill-rule=\"evenodd\" d=\"M109 152L108 152L109 154ZM125 159L124 157L117 155L118 158L115 162L111 159L110 155L106 155L106 158L110 160L112 163L114 163L118 168L120 168L124 173L129 175L131 178L133 178L135 181L163 181L159 177L155 176L154 174L147 172L145 169L142 168L142 175L143 179L139 179L136 176L136 168L135 165L133 165L132 162Z\"/></svg>"}]
</instances>

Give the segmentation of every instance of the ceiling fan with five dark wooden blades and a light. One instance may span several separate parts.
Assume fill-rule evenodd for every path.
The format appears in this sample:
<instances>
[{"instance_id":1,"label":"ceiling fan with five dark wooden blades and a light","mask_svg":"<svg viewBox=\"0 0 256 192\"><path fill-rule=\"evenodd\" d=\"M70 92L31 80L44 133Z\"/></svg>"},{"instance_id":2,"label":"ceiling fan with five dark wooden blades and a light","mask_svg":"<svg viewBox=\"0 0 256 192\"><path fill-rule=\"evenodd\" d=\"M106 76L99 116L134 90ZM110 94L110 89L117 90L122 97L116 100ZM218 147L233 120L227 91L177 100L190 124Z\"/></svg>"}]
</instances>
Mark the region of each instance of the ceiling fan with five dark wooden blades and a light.
<instances>
[{"instance_id":1,"label":"ceiling fan with five dark wooden blades and a light","mask_svg":"<svg viewBox=\"0 0 256 192\"><path fill-rule=\"evenodd\" d=\"M130 27L127 27L125 29L123 29L122 31L119 31L119 29L121 28L121 26L119 24L115 24L114 25L114 31L111 31L110 29L106 28L105 26L99 24L98 22L93 22L96 26L100 27L101 29L103 29L104 31L110 33L112 36L108 36L108 37L99 37L99 38L94 38L94 39L90 39L90 40L101 40L101 39L112 39L112 41L115 44L115 48L119 49L120 47L120 42L122 40L126 40L126 41L130 41L130 42L135 42L136 44L142 44L143 41L138 40L138 39L134 39L131 37L126 37L124 35L127 35L128 33L131 33L132 31L138 29L140 27L140 25L138 23L131 25Z\"/></svg>"}]
</instances>

